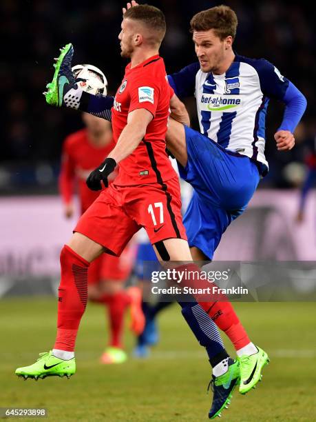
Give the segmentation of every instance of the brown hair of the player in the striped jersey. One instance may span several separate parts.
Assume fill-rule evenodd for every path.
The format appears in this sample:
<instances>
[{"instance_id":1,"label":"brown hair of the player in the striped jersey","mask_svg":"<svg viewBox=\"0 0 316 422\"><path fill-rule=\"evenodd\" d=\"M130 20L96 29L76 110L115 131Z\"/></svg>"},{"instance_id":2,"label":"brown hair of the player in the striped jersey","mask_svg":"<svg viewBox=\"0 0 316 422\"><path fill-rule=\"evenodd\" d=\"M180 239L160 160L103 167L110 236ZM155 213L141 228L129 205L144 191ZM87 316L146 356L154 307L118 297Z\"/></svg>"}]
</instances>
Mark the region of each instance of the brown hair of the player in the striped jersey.
<instances>
[{"instance_id":1,"label":"brown hair of the player in the striped jersey","mask_svg":"<svg viewBox=\"0 0 316 422\"><path fill-rule=\"evenodd\" d=\"M191 19L190 25L191 32L213 29L220 39L229 37L229 35L235 39L238 19L229 6L222 5L198 12Z\"/></svg>"}]
</instances>

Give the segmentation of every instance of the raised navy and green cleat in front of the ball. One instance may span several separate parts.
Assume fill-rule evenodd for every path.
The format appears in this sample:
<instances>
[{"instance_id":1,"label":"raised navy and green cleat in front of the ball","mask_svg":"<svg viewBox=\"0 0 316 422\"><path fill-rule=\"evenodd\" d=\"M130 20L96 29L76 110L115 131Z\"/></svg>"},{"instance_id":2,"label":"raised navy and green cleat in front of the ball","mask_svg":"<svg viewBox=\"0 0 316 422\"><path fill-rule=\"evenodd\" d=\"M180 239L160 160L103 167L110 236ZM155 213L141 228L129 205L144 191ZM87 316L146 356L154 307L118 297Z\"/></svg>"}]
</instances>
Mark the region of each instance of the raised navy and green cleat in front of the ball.
<instances>
[{"instance_id":1,"label":"raised navy and green cleat in front of the ball","mask_svg":"<svg viewBox=\"0 0 316 422\"><path fill-rule=\"evenodd\" d=\"M71 88L77 88L74 75L72 74L72 56L74 55L74 48L72 44L66 44L61 48L56 63L54 63L54 77L52 82L48 83L46 88L48 92L43 92L46 102L50 106L61 107L63 105L63 98ZM75 102L75 96L72 99Z\"/></svg>"}]
</instances>

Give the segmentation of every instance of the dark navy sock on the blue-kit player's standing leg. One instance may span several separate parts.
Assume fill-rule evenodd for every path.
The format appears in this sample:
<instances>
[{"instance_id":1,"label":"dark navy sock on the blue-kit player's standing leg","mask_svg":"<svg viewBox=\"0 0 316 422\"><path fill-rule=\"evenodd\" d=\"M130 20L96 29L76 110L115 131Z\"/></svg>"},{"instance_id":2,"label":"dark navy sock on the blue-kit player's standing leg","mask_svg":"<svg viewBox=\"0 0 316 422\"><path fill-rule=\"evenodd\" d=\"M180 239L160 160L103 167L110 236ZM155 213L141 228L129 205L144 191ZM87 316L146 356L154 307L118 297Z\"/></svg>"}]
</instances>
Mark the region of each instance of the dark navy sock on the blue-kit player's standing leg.
<instances>
[{"instance_id":1,"label":"dark navy sock on the blue-kit player's standing leg","mask_svg":"<svg viewBox=\"0 0 316 422\"><path fill-rule=\"evenodd\" d=\"M217 325L197 302L178 302L182 315L187 321L200 345L204 346L212 366L229 357L218 331Z\"/></svg>"}]
</instances>

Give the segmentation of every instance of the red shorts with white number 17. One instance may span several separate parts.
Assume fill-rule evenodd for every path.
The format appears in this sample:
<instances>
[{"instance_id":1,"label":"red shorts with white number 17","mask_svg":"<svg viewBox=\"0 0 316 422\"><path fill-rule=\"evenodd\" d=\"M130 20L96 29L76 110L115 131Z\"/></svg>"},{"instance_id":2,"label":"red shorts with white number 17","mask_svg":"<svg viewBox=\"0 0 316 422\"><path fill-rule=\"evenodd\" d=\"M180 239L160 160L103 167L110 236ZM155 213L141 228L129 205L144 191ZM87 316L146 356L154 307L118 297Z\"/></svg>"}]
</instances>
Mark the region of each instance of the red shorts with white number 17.
<instances>
[{"instance_id":1,"label":"red shorts with white number 17","mask_svg":"<svg viewBox=\"0 0 316 422\"><path fill-rule=\"evenodd\" d=\"M117 186L103 190L79 219L75 232L119 257L133 235L144 227L151 244L185 239L178 177L160 183Z\"/></svg>"}]
</instances>

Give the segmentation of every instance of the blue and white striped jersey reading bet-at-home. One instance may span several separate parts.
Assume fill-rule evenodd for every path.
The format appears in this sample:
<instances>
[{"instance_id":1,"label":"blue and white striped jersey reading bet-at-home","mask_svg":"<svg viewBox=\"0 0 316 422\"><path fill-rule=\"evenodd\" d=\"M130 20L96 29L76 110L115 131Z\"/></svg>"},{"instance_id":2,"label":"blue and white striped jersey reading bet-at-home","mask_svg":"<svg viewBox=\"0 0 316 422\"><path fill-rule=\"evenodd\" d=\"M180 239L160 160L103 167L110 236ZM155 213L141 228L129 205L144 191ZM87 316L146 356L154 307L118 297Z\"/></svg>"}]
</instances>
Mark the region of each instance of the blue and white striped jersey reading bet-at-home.
<instances>
[{"instance_id":1,"label":"blue and white striped jersey reading bet-at-home","mask_svg":"<svg viewBox=\"0 0 316 422\"><path fill-rule=\"evenodd\" d=\"M180 99L195 95L202 134L268 166L264 157L268 101L275 98L287 103L286 90L295 88L275 66L264 59L236 55L224 74L204 73L196 62L168 79Z\"/></svg>"}]
</instances>

